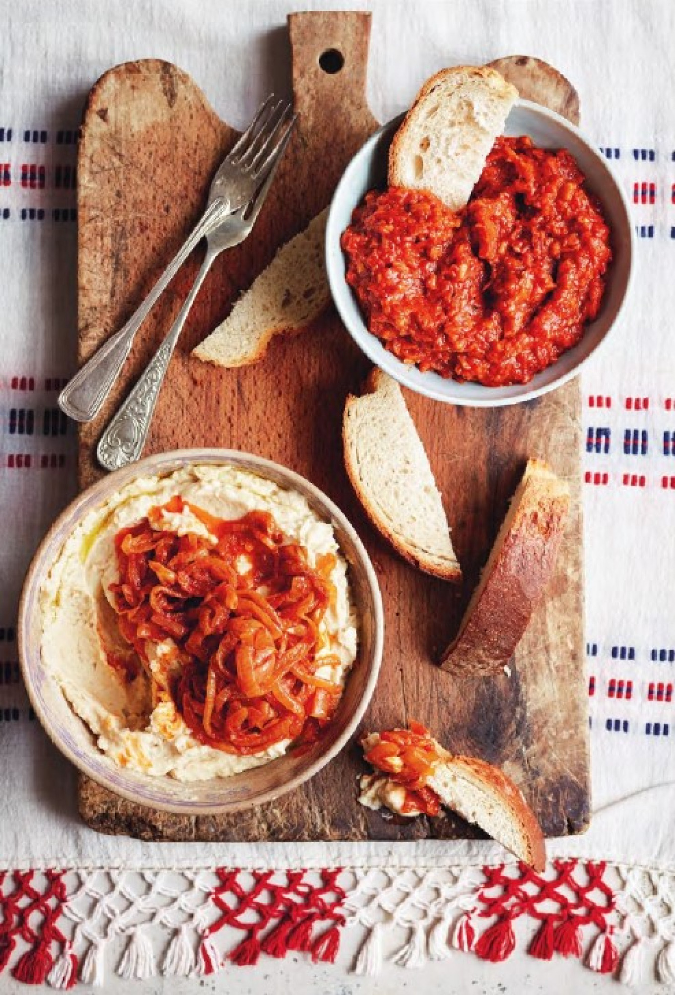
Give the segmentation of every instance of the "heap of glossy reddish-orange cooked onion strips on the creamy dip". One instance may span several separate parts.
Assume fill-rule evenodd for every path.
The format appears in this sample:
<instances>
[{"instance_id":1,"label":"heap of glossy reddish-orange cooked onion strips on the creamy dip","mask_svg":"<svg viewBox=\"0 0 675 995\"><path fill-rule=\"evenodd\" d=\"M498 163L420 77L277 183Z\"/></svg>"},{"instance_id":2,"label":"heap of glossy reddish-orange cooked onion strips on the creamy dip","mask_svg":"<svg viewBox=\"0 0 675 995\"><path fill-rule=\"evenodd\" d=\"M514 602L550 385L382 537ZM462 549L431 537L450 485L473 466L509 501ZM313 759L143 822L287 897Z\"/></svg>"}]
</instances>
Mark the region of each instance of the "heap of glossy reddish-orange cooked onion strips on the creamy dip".
<instances>
[{"instance_id":1,"label":"heap of glossy reddish-orange cooked onion strips on the creamy dip","mask_svg":"<svg viewBox=\"0 0 675 995\"><path fill-rule=\"evenodd\" d=\"M184 508L210 539L157 527ZM342 691L316 675L338 663L318 657L335 556L315 569L269 512L228 521L181 497L122 528L114 547L119 631L146 665L148 644L173 641L170 693L195 738L239 755L316 738Z\"/></svg>"}]
</instances>

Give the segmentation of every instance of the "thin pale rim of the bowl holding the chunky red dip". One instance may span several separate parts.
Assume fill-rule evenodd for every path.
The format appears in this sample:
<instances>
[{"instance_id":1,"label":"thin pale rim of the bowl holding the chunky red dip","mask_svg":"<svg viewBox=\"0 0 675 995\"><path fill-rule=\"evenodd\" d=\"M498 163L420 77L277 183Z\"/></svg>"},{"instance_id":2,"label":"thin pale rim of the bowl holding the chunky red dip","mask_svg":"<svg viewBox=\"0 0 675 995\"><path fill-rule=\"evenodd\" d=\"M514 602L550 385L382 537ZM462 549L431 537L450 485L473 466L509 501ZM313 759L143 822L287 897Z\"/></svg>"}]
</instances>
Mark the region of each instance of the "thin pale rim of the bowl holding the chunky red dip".
<instances>
[{"instance_id":1,"label":"thin pale rim of the bowl holding the chunky red dip","mask_svg":"<svg viewBox=\"0 0 675 995\"><path fill-rule=\"evenodd\" d=\"M368 359L370 359L371 362L375 364L375 366L378 366L385 373L388 373L389 376L393 377L394 380L397 380L400 384L402 384L402 386L406 387L408 390L411 390L416 394L421 394L424 397L428 397L431 400L440 401L443 404L454 404L457 407L467 407L467 408L503 408L503 407L510 407L511 405L514 404L522 404L525 401L532 401L537 397L541 397L543 394L550 393L552 390L557 390L559 387L562 387L563 384L567 383L569 380L572 380L574 377L578 376L583 366L591 359L591 357L595 357L597 355L599 349L602 348L607 338L613 331L614 327L618 323L618 319L621 316L622 311L624 310L626 301L630 297L630 289L633 283L634 271L635 271L635 267L633 265L635 259L635 250L636 250L635 229L630 218L630 208L628 205L628 198L623 190L623 187L621 186L620 181L615 175L612 167L597 151L595 146L586 137L586 135L578 127L576 127L575 124L572 124L571 121L567 120L566 117L562 117L562 114L557 113L555 110L550 110L549 107L545 107L544 104L537 103L534 100L519 99L514 104L514 107L524 107L525 109L531 110L541 117L551 120L554 124L557 124L559 127L561 127L563 131L570 132L572 135L574 135L586 147L590 155L592 155L592 157L599 163L601 169L606 173L610 183L612 184L613 188L615 189L615 192L618 195L619 202L623 210L623 226L621 234L622 236L624 236L626 233L628 235L626 241L628 258L627 258L627 273L625 278L625 286L623 288L623 294L618 302L618 305L616 307L616 312L613 318L611 319L609 325L602 334L602 337L595 343L595 345L590 349L587 355L581 356L574 363L571 369L561 373L559 376L553 377L549 383L540 384L538 386L531 387L530 389L523 390L521 393L510 397L509 396L500 397L496 396L494 393L495 390L504 390L504 389L508 390L510 389L510 387L506 388L483 387L483 390L485 390L486 392L484 396L463 397L461 395L461 388L463 386L462 383L460 383L457 380L453 380L452 378L448 379L441 378L438 374L422 373L420 370L417 369L416 366L406 365L405 363L401 362L400 359L397 359L392 352L389 352L388 349L385 349L380 340L375 335L373 335L372 332L368 329L365 320L363 319L363 316L361 314L358 302L351 288L348 286L346 280L344 279L343 269L341 270L341 272L338 272L339 267L335 264L336 259L340 259L342 260L342 262L344 259L342 250L339 246L339 239L342 234L343 228L341 226L341 222L338 222L338 212L336 208L337 206L341 206L342 191L350 181L351 176L356 171L357 167L360 166L362 159L372 155L372 149L374 148L374 146L386 135L387 131L393 130L393 128L403 119L403 117L405 116L405 111L403 111L403 113L397 114L395 117L392 117L391 120L386 122L386 124L382 124L381 127L379 127L375 132L373 132L373 134L370 135L369 138L366 139L366 141L361 145L358 151L352 156L348 165L346 166L346 169L344 170L339 179L336 192L333 196L329 208L329 216L326 225L325 264L326 264L326 271L328 274L329 287L331 289L331 295L336 304L339 317L344 327L348 331L349 335L351 335L351 338L354 340L358 348L363 353L365 353ZM561 147L565 146L561 144ZM593 192L596 192L596 190L594 190ZM602 200L601 195L598 196L599 199ZM353 207L356 207L356 204L353 204ZM338 252L336 252L336 248ZM350 314L348 312L347 303L346 303L347 300L350 302L350 304L355 306L356 312L358 314L357 319L355 319L352 316L352 313ZM352 310L352 308L349 307L349 310ZM578 344L579 343L577 343L577 345ZM573 348L574 347L576 346L573 346ZM567 350L567 352L568 351L570 350ZM545 370L541 370L540 373L538 373L533 378L533 380L530 381L530 383L532 384L537 379L538 376L546 375L549 370L555 370L556 366L558 365L558 363L561 362L564 355L565 353L563 353L562 356L558 360L556 360L556 362L553 363L551 366L547 367ZM420 384L416 380L411 381L410 378L411 371L415 371L417 376L429 377L428 381L424 382L423 384ZM436 383L438 381L441 381L441 383L443 384L454 385L454 388L449 387L444 389L442 387L438 387L436 386ZM474 388L478 388L481 385L472 384L471 386L473 386ZM511 387L527 388L528 384L514 384L511 385ZM456 393L453 393L453 390L456 391ZM451 394L452 396L448 396L449 394Z\"/></svg>"}]
</instances>

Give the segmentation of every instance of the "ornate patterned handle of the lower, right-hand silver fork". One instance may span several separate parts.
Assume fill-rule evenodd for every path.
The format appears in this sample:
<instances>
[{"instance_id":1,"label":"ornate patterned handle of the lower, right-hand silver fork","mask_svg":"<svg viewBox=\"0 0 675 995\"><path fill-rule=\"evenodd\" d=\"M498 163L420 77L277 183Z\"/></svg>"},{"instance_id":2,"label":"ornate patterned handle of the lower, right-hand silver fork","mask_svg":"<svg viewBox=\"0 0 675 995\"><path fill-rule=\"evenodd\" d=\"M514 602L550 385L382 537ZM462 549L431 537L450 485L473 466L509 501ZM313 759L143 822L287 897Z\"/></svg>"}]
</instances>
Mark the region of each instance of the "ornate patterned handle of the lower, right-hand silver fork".
<instances>
[{"instance_id":1,"label":"ornate patterned handle of the lower, right-hand silver fork","mask_svg":"<svg viewBox=\"0 0 675 995\"><path fill-rule=\"evenodd\" d=\"M166 368L176 347L185 318L217 255L217 252L207 249L204 262L192 285L192 290L178 311L166 338L101 437L97 456L99 463L107 470L118 470L120 467L125 467L128 463L133 463L139 459L152 421L154 406L164 381Z\"/></svg>"}]
</instances>

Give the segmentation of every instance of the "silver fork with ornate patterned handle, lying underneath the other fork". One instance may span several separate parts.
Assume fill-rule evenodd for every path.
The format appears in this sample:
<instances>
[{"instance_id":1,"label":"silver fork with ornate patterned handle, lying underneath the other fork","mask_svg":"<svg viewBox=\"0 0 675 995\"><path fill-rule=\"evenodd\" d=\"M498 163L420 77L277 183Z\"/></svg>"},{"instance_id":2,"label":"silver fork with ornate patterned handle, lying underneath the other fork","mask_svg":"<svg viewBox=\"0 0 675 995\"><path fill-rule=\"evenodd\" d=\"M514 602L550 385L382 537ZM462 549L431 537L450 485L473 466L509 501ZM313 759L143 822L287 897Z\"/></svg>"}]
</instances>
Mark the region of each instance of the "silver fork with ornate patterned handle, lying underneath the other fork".
<instances>
[{"instance_id":1,"label":"silver fork with ornate patterned handle, lying underneath the other fork","mask_svg":"<svg viewBox=\"0 0 675 995\"><path fill-rule=\"evenodd\" d=\"M194 298L197 297L199 288L211 269L214 259L223 250L239 245L249 236L272 184L277 165L291 137L295 119L295 115L293 115L283 137L278 142L276 157L272 162L267 178L254 198L245 207L228 215L217 228L207 234L206 256L192 290L180 308L170 331L101 437L97 456L99 463L107 470L118 470L119 467L125 467L140 457L166 368Z\"/></svg>"}]
</instances>

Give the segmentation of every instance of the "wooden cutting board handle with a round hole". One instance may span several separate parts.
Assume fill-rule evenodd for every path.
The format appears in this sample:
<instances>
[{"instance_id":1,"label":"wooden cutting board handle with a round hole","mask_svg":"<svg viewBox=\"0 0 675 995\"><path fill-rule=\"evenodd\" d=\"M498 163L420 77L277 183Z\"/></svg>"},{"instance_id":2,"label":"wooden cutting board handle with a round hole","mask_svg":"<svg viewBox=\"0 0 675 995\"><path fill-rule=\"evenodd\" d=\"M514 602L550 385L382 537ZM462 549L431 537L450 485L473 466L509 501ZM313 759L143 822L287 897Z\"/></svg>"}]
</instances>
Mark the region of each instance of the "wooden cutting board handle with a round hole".
<instances>
[{"instance_id":1,"label":"wooden cutting board handle with a round hole","mask_svg":"<svg viewBox=\"0 0 675 995\"><path fill-rule=\"evenodd\" d=\"M365 80L370 13L317 11L289 14L295 107L305 118L333 113L338 120L354 111L370 116Z\"/></svg>"}]
</instances>

